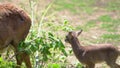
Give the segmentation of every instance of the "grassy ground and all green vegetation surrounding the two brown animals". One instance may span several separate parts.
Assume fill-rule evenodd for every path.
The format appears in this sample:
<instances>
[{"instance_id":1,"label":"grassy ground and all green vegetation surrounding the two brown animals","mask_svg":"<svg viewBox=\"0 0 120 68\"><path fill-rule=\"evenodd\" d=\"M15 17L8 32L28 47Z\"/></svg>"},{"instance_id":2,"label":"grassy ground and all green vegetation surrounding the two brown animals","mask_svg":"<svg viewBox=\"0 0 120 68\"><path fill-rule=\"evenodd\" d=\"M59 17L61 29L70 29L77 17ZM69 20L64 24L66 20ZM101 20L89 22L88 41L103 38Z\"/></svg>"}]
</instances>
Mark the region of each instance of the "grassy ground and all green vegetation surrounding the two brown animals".
<instances>
[{"instance_id":1,"label":"grassy ground and all green vegetation surrounding the two brown animals","mask_svg":"<svg viewBox=\"0 0 120 68\"><path fill-rule=\"evenodd\" d=\"M32 27L19 49L31 54L34 68L81 68L82 64L74 57L71 46L64 42L66 33L71 30L83 29L79 37L83 46L99 43L120 45L120 0L0 0L0 2L16 4L30 15ZM7 57L0 58L0 67L14 68L13 52L7 51L4 55ZM108 68L104 63L97 64L96 67ZM25 68L24 64L22 68Z\"/></svg>"}]
</instances>

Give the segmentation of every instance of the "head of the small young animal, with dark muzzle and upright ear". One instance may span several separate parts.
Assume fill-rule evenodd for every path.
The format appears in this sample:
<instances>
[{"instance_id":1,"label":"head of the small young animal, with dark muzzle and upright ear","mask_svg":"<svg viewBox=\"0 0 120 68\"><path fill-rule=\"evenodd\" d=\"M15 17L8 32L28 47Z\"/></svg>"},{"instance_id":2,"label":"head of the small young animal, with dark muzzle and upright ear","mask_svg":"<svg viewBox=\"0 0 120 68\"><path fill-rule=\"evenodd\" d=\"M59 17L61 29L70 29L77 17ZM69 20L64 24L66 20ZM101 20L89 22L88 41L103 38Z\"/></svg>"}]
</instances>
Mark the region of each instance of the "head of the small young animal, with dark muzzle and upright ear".
<instances>
[{"instance_id":1,"label":"head of the small young animal, with dark muzzle and upright ear","mask_svg":"<svg viewBox=\"0 0 120 68\"><path fill-rule=\"evenodd\" d=\"M68 32L68 34L66 35L65 38L65 42L70 43L72 39L77 38L80 34L81 34L82 30L78 31L78 32L74 32L74 31L70 31Z\"/></svg>"}]
</instances>

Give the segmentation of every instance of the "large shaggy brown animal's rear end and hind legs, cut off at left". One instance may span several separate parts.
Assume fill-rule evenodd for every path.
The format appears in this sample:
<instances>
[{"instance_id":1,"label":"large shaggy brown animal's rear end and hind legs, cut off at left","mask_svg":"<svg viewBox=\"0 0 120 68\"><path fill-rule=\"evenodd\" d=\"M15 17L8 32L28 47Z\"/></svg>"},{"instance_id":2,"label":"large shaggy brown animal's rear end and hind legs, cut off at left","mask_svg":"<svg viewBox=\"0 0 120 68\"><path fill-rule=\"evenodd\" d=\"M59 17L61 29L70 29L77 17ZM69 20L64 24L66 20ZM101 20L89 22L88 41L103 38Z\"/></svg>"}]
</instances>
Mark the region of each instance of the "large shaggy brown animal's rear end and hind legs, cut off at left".
<instances>
[{"instance_id":1,"label":"large shaggy brown animal's rear end and hind legs, cut off at left","mask_svg":"<svg viewBox=\"0 0 120 68\"><path fill-rule=\"evenodd\" d=\"M18 44L26 38L30 26L31 19L24 10L10 3L0 4L0 50L12 45L18 53ZM17 54L16 60L18 65L25 61L27 68L32 67L26 53Z\"/></svg>"}]
</instances>

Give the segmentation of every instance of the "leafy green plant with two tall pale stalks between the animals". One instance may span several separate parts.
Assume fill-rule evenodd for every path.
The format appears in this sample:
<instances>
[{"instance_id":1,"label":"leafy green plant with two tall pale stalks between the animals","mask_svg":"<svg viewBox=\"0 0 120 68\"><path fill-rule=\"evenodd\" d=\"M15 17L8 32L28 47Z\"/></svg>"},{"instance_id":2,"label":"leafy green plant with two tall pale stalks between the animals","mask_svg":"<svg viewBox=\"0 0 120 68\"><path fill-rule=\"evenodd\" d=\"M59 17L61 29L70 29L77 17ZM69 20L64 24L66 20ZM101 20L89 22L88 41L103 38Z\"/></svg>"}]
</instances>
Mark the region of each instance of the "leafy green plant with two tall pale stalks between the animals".
<instances>
[{"instance_id":1,"label":"leafy green plant with two tall pale stalks between the animals","mask_svg":"<svg viewBox=\"0 0 120 68\"><path fill-rule=\"evenodd\" d=\"M34 10L33 7L37 4L34 1L30 1L31 4L31 17L32 23L34 22ZM25 41L22 41L19 44L19 51L25 51L28 54L32 54L32 62L33 67L41 68L46 67L49 61L51 62L58 62L60 57L56 57L57 53L61 53L63 56L67 56L65 51L65 46L62 43L61 39L54 34L54 32L47 31L45 32L42 29L43 20L45 15L47 14L49 8L51 7L52 3L48 5L47 9L43 13L41 20L39 21L37 27L36 25L32 24L32 28L30 30L30 34ZM54 58L53 58L54 57ZM55 58L56 57L56 58ZM63 61L64 62L64 61Z\"/></svg>"}]
</instances>

